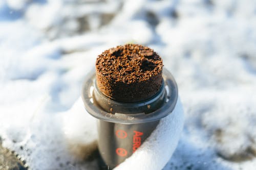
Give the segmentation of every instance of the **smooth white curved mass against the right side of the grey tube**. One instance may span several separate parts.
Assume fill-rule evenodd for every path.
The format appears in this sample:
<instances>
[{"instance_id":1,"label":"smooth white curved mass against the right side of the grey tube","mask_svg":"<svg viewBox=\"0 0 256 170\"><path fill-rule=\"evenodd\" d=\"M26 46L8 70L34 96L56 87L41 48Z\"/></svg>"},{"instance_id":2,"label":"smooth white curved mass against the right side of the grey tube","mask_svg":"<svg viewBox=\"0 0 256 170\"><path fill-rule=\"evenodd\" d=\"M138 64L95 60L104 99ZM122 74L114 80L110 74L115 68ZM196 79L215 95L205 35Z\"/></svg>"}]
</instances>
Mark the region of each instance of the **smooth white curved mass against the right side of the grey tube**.
<instances>
[{"instance_id":1,"label":"smooth white curved mass against the right side of the grey tube","mask_svg":"<svg viewBox=\"0 0 256 170\"><path fill-rule=\"evenodd\" d=\"M180 99L172 114L162 118L141 147L114 170L161 170L172 157L184 125Z\"/></svg>"}]
</instances>

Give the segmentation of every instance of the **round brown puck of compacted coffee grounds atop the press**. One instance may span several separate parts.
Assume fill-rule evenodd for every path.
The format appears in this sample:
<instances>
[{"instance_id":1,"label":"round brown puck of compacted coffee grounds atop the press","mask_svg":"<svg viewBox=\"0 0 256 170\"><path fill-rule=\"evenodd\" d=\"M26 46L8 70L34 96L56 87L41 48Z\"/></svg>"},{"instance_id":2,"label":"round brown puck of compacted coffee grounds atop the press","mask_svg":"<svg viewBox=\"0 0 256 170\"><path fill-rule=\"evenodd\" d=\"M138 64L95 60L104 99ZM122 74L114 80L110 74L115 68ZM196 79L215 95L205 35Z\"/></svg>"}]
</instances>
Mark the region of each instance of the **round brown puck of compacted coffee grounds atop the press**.
<instances>
[{"instance_id":1,"label":"round brown puck of compacted coffee grounds atop the press","mask_svg":"<svg viewBox=\"0 0 256 170\"><path fill-rule=\"evenodd\" d=\"M159 91L162 67L161 57L151 48L119 45L97 57L97 86L104 95L118 102L140 102Z\"/></svg>"}]
</instances>

